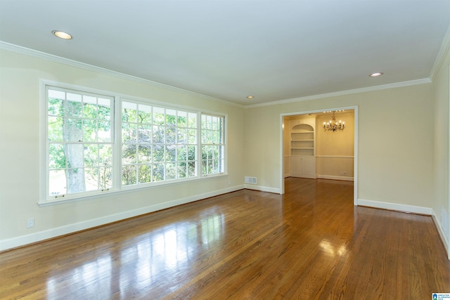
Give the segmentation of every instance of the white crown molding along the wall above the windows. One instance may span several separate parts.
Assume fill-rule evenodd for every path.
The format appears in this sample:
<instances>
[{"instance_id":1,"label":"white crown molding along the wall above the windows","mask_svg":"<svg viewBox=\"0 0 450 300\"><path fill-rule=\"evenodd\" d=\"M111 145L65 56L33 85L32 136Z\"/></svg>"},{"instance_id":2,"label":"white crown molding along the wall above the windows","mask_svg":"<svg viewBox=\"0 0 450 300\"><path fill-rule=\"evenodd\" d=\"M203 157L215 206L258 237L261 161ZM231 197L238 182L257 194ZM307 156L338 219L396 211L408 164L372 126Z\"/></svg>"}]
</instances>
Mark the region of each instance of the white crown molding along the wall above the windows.
<instances>
[{"instance_id":1,"label":"white crown molding along the wall above the windows","mask_svg":"<svg viewBox=\"0 0 450 300\"><path fill-rule=\"evenodd\" d=\"M20 54L24 54L26 56L33 56L35 58L41 58L44 60L49 60L52 61L53 63L63 63L64 65L70 65L72 67L78 67L80 69L84 69L84 70L88 70L88 71L92 71L92 72L98 72L101 74L105 74L108 76L112 76L112 77L117 77L120 79L126 79L129 81L134 81L137 82L139 84L146 84L149 86L154 86L160 89L167 89L169 91L175 91L177 93L185 93L191 96L195 96L195 97L200 97L203 98L205 100L210 100L210 101L215 101L215 102L219 102L219 103L224 103L226 105L232 105L232 106L236 106L236 107L240 107L243 108L244 105L240 105L238 103L233 103L231 101L227 101L227 100L223 100L223 99L219 99L219 98L214 98L211 96L207 96L204 95L202 93L196 93L193 91L188 91L185 89L180 89L177 88L175 86L169 86L167 84L160 84L159 82L156 81L151 81L148 79L143 79L141 77L136 77L136 76L132 76L129 74L124 74L121 72L116 72L113 70L108 70L105 69L103 67L97 67L95 65L89 65L86 63L80 63L79 61L76 60L71 60L69 58L62 58L60 56L54 56L53 54L49 54L49 53L44 53L41 51L37 51L31 48L26 48L23 46L18 46L15 44L10 44L10 43L6 43L5 41L0 41L0 49L6 50L6 51L11 51L11 52L15 52L15 53L20 53Z\"/></svg>"}]
</instances>

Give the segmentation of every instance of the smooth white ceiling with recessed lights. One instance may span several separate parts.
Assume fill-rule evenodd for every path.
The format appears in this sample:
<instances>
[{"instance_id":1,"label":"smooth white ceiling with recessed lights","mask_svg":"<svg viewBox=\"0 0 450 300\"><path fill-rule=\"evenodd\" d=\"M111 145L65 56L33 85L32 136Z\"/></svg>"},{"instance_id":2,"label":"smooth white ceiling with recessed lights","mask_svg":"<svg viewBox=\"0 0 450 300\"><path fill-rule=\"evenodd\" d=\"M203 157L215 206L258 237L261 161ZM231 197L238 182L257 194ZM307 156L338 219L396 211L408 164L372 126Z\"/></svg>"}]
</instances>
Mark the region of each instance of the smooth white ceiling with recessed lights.
<instances>
[{"instance_id":1,"label":"smooth white ceiling with recessed lights","mask_svg":"<svg viewBox=\"0 0 450 300\"><path fill-rule=\"evenodd\" d=\"M449 0L0 0L0 41L241 105L429 79L449 25Z\"/></svg>"}]
</instances>

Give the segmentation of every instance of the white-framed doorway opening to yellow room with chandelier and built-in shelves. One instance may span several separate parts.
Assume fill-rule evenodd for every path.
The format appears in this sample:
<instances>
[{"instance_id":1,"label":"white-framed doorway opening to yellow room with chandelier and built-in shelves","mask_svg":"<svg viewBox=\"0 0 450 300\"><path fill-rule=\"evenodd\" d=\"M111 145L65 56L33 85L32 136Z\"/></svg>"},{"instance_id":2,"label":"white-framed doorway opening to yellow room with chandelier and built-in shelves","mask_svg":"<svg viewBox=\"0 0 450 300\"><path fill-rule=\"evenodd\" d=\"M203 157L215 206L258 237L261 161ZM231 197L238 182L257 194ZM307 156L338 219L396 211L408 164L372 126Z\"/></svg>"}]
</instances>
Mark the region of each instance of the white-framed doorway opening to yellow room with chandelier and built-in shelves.
<instances>
[{"instance_id":1,"label":"white-framed doorway opening to yellow room with chandelier and built-in shelves","mask_svg":"<svg viewBox=\"0 0 450 300\"><path fill-rule=\"evenodd\" d=\"M341 127L324 129L333 118ZM343 128L342 128L343 127ZM358 107L292 112L281 115L281 193L284 178L353 181L358 204Z\"/></svg>"}]
</instances>

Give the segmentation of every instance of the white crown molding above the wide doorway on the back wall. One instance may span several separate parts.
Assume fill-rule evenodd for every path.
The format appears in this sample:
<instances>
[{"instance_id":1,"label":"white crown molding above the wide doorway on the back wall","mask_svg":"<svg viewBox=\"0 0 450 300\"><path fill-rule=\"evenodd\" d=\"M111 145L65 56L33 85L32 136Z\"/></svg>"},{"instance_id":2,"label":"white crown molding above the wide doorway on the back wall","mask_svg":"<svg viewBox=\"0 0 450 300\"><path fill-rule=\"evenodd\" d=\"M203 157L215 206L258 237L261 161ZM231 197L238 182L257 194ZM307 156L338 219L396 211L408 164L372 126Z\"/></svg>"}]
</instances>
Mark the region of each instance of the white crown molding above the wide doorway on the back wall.
<instances>
[{"instance_id":1,"label":"white crown molding above the wide doorway on the back wall","mask_svg":"<svg viewBox=\"0 0 450 300\"><path fill-rule=\"evenodd\" d=\"M430 84L431 82L432 81L430 78L423 78L423 79L416 79L416 80L411 80L411 81L397 82L394 84L383 84L381 86L369 86L369 87L361 88L361 89L337 91L337 92L333 92L333 93L322 93L322 94L313 95L313 96L305 96L305 97L299 97L299 98L271 101L271 102L260 103L260 104L245 105L244 108L281 105L281 104L295 103L295 102L307 101L307 100L330 98L330 97L336 97L336 96L345 96L345 95L350 95L352 93L365 93L368 91L380 91L380 90L384 90L384 89L394 89L394 88L399 88L399 87L403 87L403 86L414 86L417 84Z\"/></svg>"}]
</instances>

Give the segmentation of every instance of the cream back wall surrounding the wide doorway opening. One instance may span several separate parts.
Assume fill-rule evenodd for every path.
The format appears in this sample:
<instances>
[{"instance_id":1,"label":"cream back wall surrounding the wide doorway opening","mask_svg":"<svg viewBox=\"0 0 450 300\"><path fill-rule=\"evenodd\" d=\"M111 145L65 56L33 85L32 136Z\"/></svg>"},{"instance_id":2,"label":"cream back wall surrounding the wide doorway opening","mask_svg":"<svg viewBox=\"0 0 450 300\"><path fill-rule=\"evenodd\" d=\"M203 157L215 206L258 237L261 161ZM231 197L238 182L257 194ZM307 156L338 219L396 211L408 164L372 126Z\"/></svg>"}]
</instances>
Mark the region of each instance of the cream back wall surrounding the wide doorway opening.
<instances>
[{"instance_id":1,"label":"cream back wall surrounding the wide doorway opening","mask_svg":"<svg viewBox=\"0 0 450 300\"><path fill-rule=\"evenodd\" d=\"M263 187L281 191L281 147L273 142L281 141L280 115L352 106L359 112L358 199L430 208L431 84L248 108L246 175L256 176Z\"/></svg>"}]
</instances>

